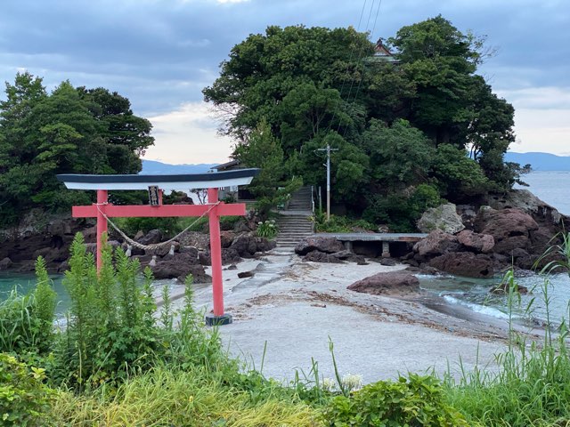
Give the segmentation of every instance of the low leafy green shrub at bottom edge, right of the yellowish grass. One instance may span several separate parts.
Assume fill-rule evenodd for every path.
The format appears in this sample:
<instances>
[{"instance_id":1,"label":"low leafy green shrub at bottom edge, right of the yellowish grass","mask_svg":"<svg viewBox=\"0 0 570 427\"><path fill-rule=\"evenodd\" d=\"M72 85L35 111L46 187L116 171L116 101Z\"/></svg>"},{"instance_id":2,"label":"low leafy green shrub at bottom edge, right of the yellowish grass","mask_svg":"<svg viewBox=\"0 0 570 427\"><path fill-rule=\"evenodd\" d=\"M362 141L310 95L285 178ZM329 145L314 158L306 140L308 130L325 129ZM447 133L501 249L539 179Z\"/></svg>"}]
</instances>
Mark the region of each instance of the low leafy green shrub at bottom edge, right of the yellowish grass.
<instances>
[{"instance_id":1,"label":"low leafy green shrub at bottom edge, right of the yellowish grass","mask_svg":"<svg viewBox=\"0 0 570 427\"><path fill-rule=\"evenodd\" d=\"M468 426L462 415L444 403L441 383L433 376L411 374L398 382L379 381L351 396L337 396L324 411L327 425L348 426Z\"/></svg>"}]
</instances>

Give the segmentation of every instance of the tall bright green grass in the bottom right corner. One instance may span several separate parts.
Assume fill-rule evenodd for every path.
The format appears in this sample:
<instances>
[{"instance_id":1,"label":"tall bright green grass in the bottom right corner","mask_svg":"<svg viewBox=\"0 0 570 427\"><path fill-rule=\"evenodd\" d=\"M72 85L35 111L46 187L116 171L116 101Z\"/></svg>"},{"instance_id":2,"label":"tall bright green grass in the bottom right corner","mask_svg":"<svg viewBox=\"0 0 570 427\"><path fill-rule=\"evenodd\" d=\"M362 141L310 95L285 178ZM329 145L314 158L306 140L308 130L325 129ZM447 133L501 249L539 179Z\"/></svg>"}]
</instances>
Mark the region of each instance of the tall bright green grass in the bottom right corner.
<instances>
[{"instance_id":1,"label":"tall bright green grass in the bottom right corner","mask_svg":"<svg viewBox=\"0 0 570 427\"><path fill-rule=\"evenodd\" d=\"M512 273L508 281L508 305L512 312L520 299ZM459 382L447 376L448 402L471 423L501 427L570 426L568 324L567 319L561 319L558 331L552 330L549 289L547 275L538 289L547 316L542 342L529 341L515 333L509 316L509 348L496 356L498 372L463 372ZM532 304L524 310L532 311Z\"/></svg>"}]
</instances>

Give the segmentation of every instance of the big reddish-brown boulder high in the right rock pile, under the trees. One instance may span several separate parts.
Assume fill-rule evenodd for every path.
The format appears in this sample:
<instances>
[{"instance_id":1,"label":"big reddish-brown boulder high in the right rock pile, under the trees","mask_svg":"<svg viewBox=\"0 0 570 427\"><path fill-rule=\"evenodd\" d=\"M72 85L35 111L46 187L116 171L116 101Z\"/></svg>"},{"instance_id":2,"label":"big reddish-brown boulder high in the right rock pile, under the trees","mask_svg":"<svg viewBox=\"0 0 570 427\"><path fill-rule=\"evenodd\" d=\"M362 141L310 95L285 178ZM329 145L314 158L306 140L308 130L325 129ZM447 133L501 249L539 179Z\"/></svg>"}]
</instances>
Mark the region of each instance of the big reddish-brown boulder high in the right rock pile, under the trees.
<instances>
[{"instance_id":1,"label":"big reddish-brown boulder high in the right rock pile, under the trees","mask_svg":"<svg viewBox=\"0 0 570 427\"><path fill-rule=\"evenodd\" d=\"M531 234L538 230L538 224L529 214L515 208L495 210L483 206L477 214L476 231L493 236L493 252L511 254L515 248L532 252Z\"/></svg>"}]
</instances>

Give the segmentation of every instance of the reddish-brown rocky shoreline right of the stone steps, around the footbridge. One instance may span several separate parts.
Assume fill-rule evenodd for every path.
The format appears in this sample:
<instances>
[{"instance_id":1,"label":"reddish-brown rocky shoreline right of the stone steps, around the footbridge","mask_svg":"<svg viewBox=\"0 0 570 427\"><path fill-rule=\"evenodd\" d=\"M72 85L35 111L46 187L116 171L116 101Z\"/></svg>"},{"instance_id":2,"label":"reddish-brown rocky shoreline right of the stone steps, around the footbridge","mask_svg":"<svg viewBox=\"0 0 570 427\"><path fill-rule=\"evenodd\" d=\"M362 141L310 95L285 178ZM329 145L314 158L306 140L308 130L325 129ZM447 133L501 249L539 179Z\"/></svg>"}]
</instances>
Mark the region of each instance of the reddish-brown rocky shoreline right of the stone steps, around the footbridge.
<instances>
[{"instance_id":1,"label":"reddish-brown rocky shoreline right of the stone steps, around the footbridge","mask_svg":"<svg viewBox=\"0 0 570 427\"><path fill-rule=\"evenodd\" d=\"M570 218L544 203L526 189L514 189L506 196L492 195L474 205L446 204L430 209L419 220L428 233L396 262L409 270L428 274L448 273L469 278L493 278L506 270L529 274L559 254L543 256L560 243L558 233L568 230ZM363 253L347 255L335 238L309 238L296 247L305 261L362 262ZM390 259L376 261L389 264Z\"/></svg>"}]
</instances>

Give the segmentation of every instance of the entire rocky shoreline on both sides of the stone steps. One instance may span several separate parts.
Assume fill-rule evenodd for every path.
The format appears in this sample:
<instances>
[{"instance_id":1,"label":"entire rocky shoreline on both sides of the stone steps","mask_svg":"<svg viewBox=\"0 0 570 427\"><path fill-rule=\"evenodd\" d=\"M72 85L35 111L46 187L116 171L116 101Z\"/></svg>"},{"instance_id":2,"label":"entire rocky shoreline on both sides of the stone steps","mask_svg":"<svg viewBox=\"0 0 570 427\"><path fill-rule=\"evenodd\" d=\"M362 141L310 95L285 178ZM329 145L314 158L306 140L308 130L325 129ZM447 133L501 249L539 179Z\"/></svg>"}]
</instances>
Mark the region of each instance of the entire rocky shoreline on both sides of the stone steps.
<instances>
[{"instance_id":1,"label":"entire rocky shoreline on both sides of the stone steps","mask_svg":"<svg viewBox=\"0 0 570 427\"><path fill-rule=\"evenodd\" d=\"M259 256L275 246L274 242L255 236L255 224L238 225L235 230L222 231L224 265ZM528 190L514 189L507 195L491 195L472 205L446 204L429 210L419 220L419 229L428 233L427 238L410 245L401 256L372 261L384 265L403 262L411 271L445 272L471 278L491 278L510 268L525 274L549 246L559 243L557 234L569 227L570 218L559 214L555 207ZM83 233L85 242L94 251L94 222L61 216L46 218L31 212L18 228L0 231L0 270L32 271L40 255L50 271L66 270L69 245L77 232ZM112 246L127 249L126 243L112 232L110 239ZM142 245L151 245L166 237L160 230L151 230L137 234L134 239ZM143 251L134 247L132 256L139 258L142 266L151 264L157 278L182 279L192 273L199 283L209 280L204 272L204 266L210 264L208 247L207 234L188 232L172 248L162 246ZM347 251L335 238L322 237L299 242L296 253L310 262L362 265L370 258L370 254L361 254L357 249ZM542 258L538 266L555 260L556 256Z\"/></svg>"}]
</instances>

